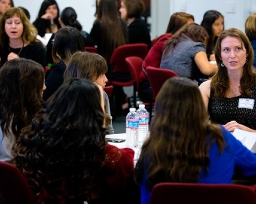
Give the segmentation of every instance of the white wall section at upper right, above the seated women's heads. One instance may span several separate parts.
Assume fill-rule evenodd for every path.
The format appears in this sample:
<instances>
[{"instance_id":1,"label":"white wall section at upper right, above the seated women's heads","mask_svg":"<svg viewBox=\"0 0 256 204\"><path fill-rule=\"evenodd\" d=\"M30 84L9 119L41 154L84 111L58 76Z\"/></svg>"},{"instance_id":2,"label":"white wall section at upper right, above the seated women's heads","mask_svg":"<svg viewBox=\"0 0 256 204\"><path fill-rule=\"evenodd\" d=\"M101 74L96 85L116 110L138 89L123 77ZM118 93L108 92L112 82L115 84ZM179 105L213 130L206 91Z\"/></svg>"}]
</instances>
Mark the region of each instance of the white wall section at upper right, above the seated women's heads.
<instances>
[{"instance_id":1,"label":"white wall section at upper right, above the seated women's heads","mask_svg":"<svg viewBox=\"0 0 256 204\"><path fill-rule=\"evenodd\" d=\"M200 24L203 14L207 10L218 10L224 15L225 29L238 28L244 31L244 23L248 15L256 12L256 0L151 0L157 9L152 9L152 21L156 19L157 29L152 25L152 37L165 32L170 15L174 12L187 12L193 14L195 22ZM166 11L168 8L169 12ZM158 16L164 16L159 18Z\"/></svg>"}]
</instances>

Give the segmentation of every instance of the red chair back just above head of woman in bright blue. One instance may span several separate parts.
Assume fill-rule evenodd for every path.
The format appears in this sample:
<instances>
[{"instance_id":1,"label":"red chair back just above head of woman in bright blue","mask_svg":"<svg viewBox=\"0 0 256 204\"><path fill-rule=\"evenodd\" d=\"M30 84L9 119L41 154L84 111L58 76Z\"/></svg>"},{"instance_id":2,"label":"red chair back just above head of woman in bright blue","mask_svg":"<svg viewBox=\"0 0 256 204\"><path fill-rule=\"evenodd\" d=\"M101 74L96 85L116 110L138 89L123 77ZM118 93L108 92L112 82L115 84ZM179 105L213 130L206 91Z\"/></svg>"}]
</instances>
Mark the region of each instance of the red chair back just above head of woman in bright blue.
<instances>
[{"instance_id":1,"label":"red chair back just above head of woman in bright blue","mask_svg":"<svg viewBox=\"0 0 256 204\"><path fill-rule=\"evenodd\" d=\"M152 66L148 66L146 68L146 73L152 88L153 99L156 99L158 92L167 79L172 77L179 77L179 75L172 70L156 68Z\"/></svg>"}]
</instances>

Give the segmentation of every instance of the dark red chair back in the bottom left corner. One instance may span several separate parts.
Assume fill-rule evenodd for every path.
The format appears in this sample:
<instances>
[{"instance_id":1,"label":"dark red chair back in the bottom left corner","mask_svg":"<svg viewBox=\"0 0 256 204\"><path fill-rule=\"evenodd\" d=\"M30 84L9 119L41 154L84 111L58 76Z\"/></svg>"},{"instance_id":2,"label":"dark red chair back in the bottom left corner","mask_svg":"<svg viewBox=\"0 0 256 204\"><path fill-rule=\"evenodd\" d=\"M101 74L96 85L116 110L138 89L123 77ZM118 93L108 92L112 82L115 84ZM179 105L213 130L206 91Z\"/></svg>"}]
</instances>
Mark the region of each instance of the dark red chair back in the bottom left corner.
<instances>
[{"instance_id":1,"label":"dark red chair back in the bottom left corner","mask_svg":"<svg viewBox=\"0 0 256 204\"><path fill-rule=\"evenodd\" d=\"M34 194L17 167L0 161L0 172L0 195L3 203L34 203Z\"/></svg>"}]
</instances>

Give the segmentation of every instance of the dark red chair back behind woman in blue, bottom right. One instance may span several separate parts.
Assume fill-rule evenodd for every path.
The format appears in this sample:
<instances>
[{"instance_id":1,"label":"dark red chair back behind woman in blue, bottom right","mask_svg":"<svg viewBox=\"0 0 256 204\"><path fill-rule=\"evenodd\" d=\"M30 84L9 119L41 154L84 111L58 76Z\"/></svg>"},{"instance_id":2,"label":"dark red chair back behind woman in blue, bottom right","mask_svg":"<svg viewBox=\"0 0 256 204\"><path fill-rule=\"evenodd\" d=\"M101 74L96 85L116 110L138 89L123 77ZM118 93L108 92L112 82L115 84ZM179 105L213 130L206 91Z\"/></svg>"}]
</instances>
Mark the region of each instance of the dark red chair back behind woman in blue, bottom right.
<instances>
[{"instance_id":1,"label":"dark red chair back behind woman in blue, bottom right","mask_svg":"<svg viewBox=\"0 0 256 204\"><path fill-rule=\"evenodd\" d=\"M238 184L159 183L153 187L150 204L253 204L252 187Z\"/></svg>"}]
</instances>

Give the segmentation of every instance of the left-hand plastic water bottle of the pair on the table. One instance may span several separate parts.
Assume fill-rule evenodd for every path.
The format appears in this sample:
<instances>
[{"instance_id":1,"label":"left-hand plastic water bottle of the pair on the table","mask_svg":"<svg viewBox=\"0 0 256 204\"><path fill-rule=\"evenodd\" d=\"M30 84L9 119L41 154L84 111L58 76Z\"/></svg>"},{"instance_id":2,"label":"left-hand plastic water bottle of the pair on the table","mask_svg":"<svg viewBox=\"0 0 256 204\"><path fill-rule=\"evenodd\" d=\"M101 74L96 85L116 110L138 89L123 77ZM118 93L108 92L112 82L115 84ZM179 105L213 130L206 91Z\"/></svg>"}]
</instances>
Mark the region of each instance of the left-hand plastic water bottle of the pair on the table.
<instances>
[{"instance_id":1,"label":"left-hand plastic water bottle of the pair on the table","mask_svg":"<svg viewBox=\"0 0 256 204\"><path fill-rule=\"evenodd\" d=\"M139 117L135 108L130 108L126 116L126 146L137 147L139 132Z\"/></svg>"}]
</instances>

